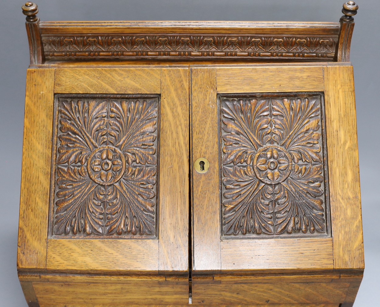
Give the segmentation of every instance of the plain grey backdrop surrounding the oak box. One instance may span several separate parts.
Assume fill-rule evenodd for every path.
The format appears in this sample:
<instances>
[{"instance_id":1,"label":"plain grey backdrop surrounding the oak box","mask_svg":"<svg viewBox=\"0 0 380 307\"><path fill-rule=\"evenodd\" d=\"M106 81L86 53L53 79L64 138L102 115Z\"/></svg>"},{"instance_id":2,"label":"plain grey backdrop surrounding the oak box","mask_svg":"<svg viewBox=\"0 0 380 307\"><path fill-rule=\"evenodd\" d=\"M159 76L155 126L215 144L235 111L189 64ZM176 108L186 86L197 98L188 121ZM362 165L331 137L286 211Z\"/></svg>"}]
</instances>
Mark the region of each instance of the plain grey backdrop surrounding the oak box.
<instances>
[{"instance_id":1,"label":"plain grey backdrop surrounding the oak box","mask_svg":"<svg viewBox=\"0 0 380 307\"><path fill-rule=\"evenodd\" d=\"M48 20L231 20L338 22L345 0L37 0ZM358 0L355 70L366 270L355 307L380 302L380 6ZM0 306L27 306L16 270L25 76L29 51L22 0L0 0Z\"/></svg>"}]
</instances>

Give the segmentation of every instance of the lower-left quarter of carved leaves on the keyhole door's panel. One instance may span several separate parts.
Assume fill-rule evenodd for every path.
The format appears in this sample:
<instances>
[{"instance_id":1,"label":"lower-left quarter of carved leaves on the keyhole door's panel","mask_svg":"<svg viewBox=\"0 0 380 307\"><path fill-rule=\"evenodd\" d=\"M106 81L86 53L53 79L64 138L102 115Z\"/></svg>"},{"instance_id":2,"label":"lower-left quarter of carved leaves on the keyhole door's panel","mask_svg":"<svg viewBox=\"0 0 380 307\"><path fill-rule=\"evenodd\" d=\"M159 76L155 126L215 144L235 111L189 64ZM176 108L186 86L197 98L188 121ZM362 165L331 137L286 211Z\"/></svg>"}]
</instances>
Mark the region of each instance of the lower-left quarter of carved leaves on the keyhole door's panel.
<instances>
[{"instance_id":1,"label":"lower-left quarter of carved leaves on the keyhole door's panel","mask_svg":"<svg viewBox=\"0 0 380 307\"><path fill-rule=\"evenodd\" d=\"M260 182L250 166L223 167L223 176L224 234L273 234L272 187Z\"/></svg>"}]
</instances>

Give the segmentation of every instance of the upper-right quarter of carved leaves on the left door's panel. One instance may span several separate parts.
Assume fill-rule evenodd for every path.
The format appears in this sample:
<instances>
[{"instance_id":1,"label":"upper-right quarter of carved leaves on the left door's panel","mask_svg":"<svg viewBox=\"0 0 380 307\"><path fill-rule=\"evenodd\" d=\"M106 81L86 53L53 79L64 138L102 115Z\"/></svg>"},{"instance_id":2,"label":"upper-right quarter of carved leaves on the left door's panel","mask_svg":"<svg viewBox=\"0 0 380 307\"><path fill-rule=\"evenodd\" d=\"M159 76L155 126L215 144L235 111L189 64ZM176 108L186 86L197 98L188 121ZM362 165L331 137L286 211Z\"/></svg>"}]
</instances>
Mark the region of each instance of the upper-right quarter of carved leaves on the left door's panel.
<instances>
[{"instance_id":1,"label":"upper-right quarter of carved leaves on the left door's panel","mask_svg":"<svg viewBox=\"0 0 380 307\"><path fill-rule=\"evenodd\" d=\"M128 164L156 164L157 100L111 102L110 111L109 142L122 150Z\"/></svg>"}]
</instances>

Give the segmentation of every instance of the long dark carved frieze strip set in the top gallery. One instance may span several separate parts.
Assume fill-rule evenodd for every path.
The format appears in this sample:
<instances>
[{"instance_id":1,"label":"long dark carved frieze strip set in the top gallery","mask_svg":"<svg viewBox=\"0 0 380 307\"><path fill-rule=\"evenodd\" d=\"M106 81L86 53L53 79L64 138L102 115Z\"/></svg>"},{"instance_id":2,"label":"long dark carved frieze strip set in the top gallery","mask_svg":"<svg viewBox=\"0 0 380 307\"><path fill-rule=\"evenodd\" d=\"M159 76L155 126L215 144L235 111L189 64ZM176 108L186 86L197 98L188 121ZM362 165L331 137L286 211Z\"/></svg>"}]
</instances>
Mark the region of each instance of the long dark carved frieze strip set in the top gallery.
<instances>
[{"instance_id":1,"label":"long dark carved frieze strip set in the top gallery","mask_svg":"<svg viewBox=\"0 0 380 307\"><path fill-rule=\"evenodd\" d=\"M337 36L43 35L46 59L287 58L333 60Z\"/></svg>"}]
</instances>

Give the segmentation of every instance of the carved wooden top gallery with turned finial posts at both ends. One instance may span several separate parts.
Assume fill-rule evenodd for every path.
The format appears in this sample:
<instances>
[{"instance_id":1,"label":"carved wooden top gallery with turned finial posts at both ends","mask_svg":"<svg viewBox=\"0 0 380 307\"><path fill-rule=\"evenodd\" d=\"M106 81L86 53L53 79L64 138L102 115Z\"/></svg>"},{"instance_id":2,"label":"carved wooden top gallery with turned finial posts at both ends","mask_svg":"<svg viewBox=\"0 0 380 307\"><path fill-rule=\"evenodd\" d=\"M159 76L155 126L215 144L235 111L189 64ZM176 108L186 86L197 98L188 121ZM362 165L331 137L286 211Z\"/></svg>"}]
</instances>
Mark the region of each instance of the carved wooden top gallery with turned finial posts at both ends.
<instances>
[{"instance_id":1,"label":"carved wooden top gallery with turned finial posts at both ends","mask_svg":"<svg viewBox=\"0 0 380 307\"><path fill-rule=\"evenodd\" d=\"M351 2L351 1L350 1ZM350 3L349 2L349 3ZM355 3L354 3L355 4ZM40 22L23 6L31 64L93 59L348 61L353 11L333 22ZM352 5L351 5L352 6ZM351 7L350 6L350 7ZM33 9L30 9L33 7Z\"/></svg>"}]
</instances>

